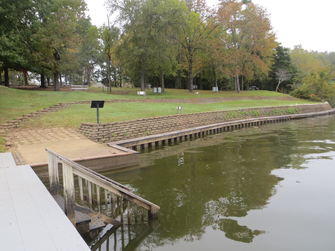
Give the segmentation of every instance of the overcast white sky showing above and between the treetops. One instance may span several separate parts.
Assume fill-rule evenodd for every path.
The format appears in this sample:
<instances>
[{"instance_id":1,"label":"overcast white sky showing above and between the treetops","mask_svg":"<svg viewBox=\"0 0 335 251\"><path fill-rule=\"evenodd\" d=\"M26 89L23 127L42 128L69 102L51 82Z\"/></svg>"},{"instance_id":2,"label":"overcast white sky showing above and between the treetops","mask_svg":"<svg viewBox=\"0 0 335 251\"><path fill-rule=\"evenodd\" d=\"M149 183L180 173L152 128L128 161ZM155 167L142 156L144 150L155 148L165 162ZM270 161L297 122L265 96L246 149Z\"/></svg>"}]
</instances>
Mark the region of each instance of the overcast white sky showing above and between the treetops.
<instances>
[{"instance_id":1,"label":"overcast white sky showing above and between the treetops","mask_svg":"<svg viewBox=\"0 0 335 251\"><path fill-rule=\"evenodd\" d=\"M96 26L107 20L105 0L85 0L88 15ZM209 5L218 0L207 0ZM270 20L277 41L282 46L293 48L301 44L306 50L335 51L335 1L301 0L252 0L265 7L271 14Z\"/></svg>"}]
</instances>

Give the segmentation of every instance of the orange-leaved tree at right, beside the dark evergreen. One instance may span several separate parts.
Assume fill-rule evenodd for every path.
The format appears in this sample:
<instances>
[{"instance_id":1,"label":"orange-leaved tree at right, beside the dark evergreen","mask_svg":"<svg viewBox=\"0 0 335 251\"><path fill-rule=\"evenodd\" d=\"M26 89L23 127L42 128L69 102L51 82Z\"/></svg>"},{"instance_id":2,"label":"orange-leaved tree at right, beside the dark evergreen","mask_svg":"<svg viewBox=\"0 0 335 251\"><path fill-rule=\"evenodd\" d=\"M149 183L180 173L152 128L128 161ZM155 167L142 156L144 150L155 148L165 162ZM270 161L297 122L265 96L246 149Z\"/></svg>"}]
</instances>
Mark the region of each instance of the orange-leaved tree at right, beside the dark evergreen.
<instances>
[{"instance_id":1,"label":"orange-leaved tree at right, beside the dark evergreen","mask_svg":"<svg viewBox=\"0 0 335 251\"><path fill-rule=\"evenodd\" d=\"M277 43L269 14L261 6L249 1L224 0L219 13L223 29L227 31L222 40L233 62L231 74L235 90L240 92L239 75L247 69L244 67L248 66L249 75L255 71L267 73Z\"/></svg>"}]
</instances>

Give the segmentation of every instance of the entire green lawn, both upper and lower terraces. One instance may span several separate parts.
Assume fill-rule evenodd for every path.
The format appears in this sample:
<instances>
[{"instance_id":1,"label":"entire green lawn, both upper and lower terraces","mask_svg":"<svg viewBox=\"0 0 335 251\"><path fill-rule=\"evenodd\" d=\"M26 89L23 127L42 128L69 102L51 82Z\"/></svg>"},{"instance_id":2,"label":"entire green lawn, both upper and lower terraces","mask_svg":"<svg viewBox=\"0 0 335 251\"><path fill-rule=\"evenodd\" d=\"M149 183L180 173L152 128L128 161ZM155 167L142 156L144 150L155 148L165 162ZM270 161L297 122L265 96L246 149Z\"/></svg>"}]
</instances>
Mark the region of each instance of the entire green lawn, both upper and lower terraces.
<instances>
[{"instance_id":1,"label":"entire green lawn, both upper and lower terraces","mask_svg":"<svg viewBox=\"0 0 335 251\"><path fill-rule=\"evenodd\" d=\"M0 86L0 123L21 117L37 110L42 110L58 103L67 103L85 100L113 100L113 99L138 99L139 88L112 88L112 92L102 92L100 88L90 87L88 91L37 91L19 90ZM200 97L242 97L242 96L286 96L285 94L269 91L199 91ZM193 98L194 93L187 90L166 89L166 93L153 93L146 90L146 98ZM143 97L141 97L143 99ZM239 100L213 104L187 104L187 103L105 103L99 109L100 123L125 121L145 117L156 117L177 114L177 106L183 106L183 113L196 113L206 111L243 109L249 107L282 106L294 104L313 103L307 100L294 101L281 100ZM33 128L78 128L82 122L96 123L96 109L90 104L73 104L57 112L37 115L23 121L18 125L22 129ZM0 152L6 151L5 141L0 136Z\"/></svg>"}]
</instances>

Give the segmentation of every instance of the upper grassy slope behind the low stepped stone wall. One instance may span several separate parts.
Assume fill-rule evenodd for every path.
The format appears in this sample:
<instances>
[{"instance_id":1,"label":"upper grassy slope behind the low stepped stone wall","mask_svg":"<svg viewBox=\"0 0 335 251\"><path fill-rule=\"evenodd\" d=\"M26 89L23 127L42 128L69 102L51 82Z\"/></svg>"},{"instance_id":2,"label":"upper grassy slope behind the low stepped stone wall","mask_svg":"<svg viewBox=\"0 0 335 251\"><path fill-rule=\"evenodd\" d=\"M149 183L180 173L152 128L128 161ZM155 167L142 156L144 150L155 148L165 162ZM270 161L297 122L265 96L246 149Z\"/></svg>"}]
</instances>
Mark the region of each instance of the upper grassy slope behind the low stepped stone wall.
<instances>
[{"instance_id":1,"label":"upper grassy slope behind the low stepped stone wall","mask_svg":"<svg viewBox=\"0 0 335 251\"><path fill-rule=\"evenodd\" d=\"M101 92L99 88L91 88L90 91L71 91L71 92L53 92L53 91L25 91L0 86L0 123L21 117L23 114L29 114L43 108L53 106L58 103L74 102L82 100L112 100L112 99L138 99L137 88L113 88L112 91L121 91L123 95L108 94ZM268 91L244 91L236 93L234 91L213 93L212 91L200 91L201 97L237 97L237 96L285 96L281 93ZM155 94L147 90L146 98L193 98L194 93L187 90L167 89L164 94ZM141 97L143 98L143 97ZM257 104L255 104L257 106ZM175 105L174 105L175 106ZM127 108L131 110L132 108ZM161 111L156 109L156 112ZM194 111L195 112L195 111ZM174 114L174 113L173 113ZM157 114L158 115L158 114ZM157 116L156 115L156 116ZM161 114L165 115L165 114Z\"/></svg>"}]
</instances>

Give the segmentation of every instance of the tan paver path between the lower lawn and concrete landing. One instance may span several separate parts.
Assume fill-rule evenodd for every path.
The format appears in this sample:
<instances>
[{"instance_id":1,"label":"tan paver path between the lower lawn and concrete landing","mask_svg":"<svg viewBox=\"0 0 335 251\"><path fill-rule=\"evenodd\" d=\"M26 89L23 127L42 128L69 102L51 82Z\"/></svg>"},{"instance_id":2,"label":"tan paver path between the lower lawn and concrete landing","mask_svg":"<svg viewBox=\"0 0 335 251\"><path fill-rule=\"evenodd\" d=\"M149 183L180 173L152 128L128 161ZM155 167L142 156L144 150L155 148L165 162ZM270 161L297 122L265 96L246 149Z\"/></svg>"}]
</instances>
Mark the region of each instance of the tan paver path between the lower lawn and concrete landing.
<instances>
[{"instance_id":1,"label":"tan paver path between the lower lawn and concrete landing","mask_svg":"<svg viewBox=\"0 0 335 251\"><path fill-rule=\"evenodd\" d=\"M13 129L6 137L10 138L15 145L26 145L34 143L46 143L71 139L87 139L85 135L71 128L48 128L35 130Z\"/></svg>"}]
</instances>

